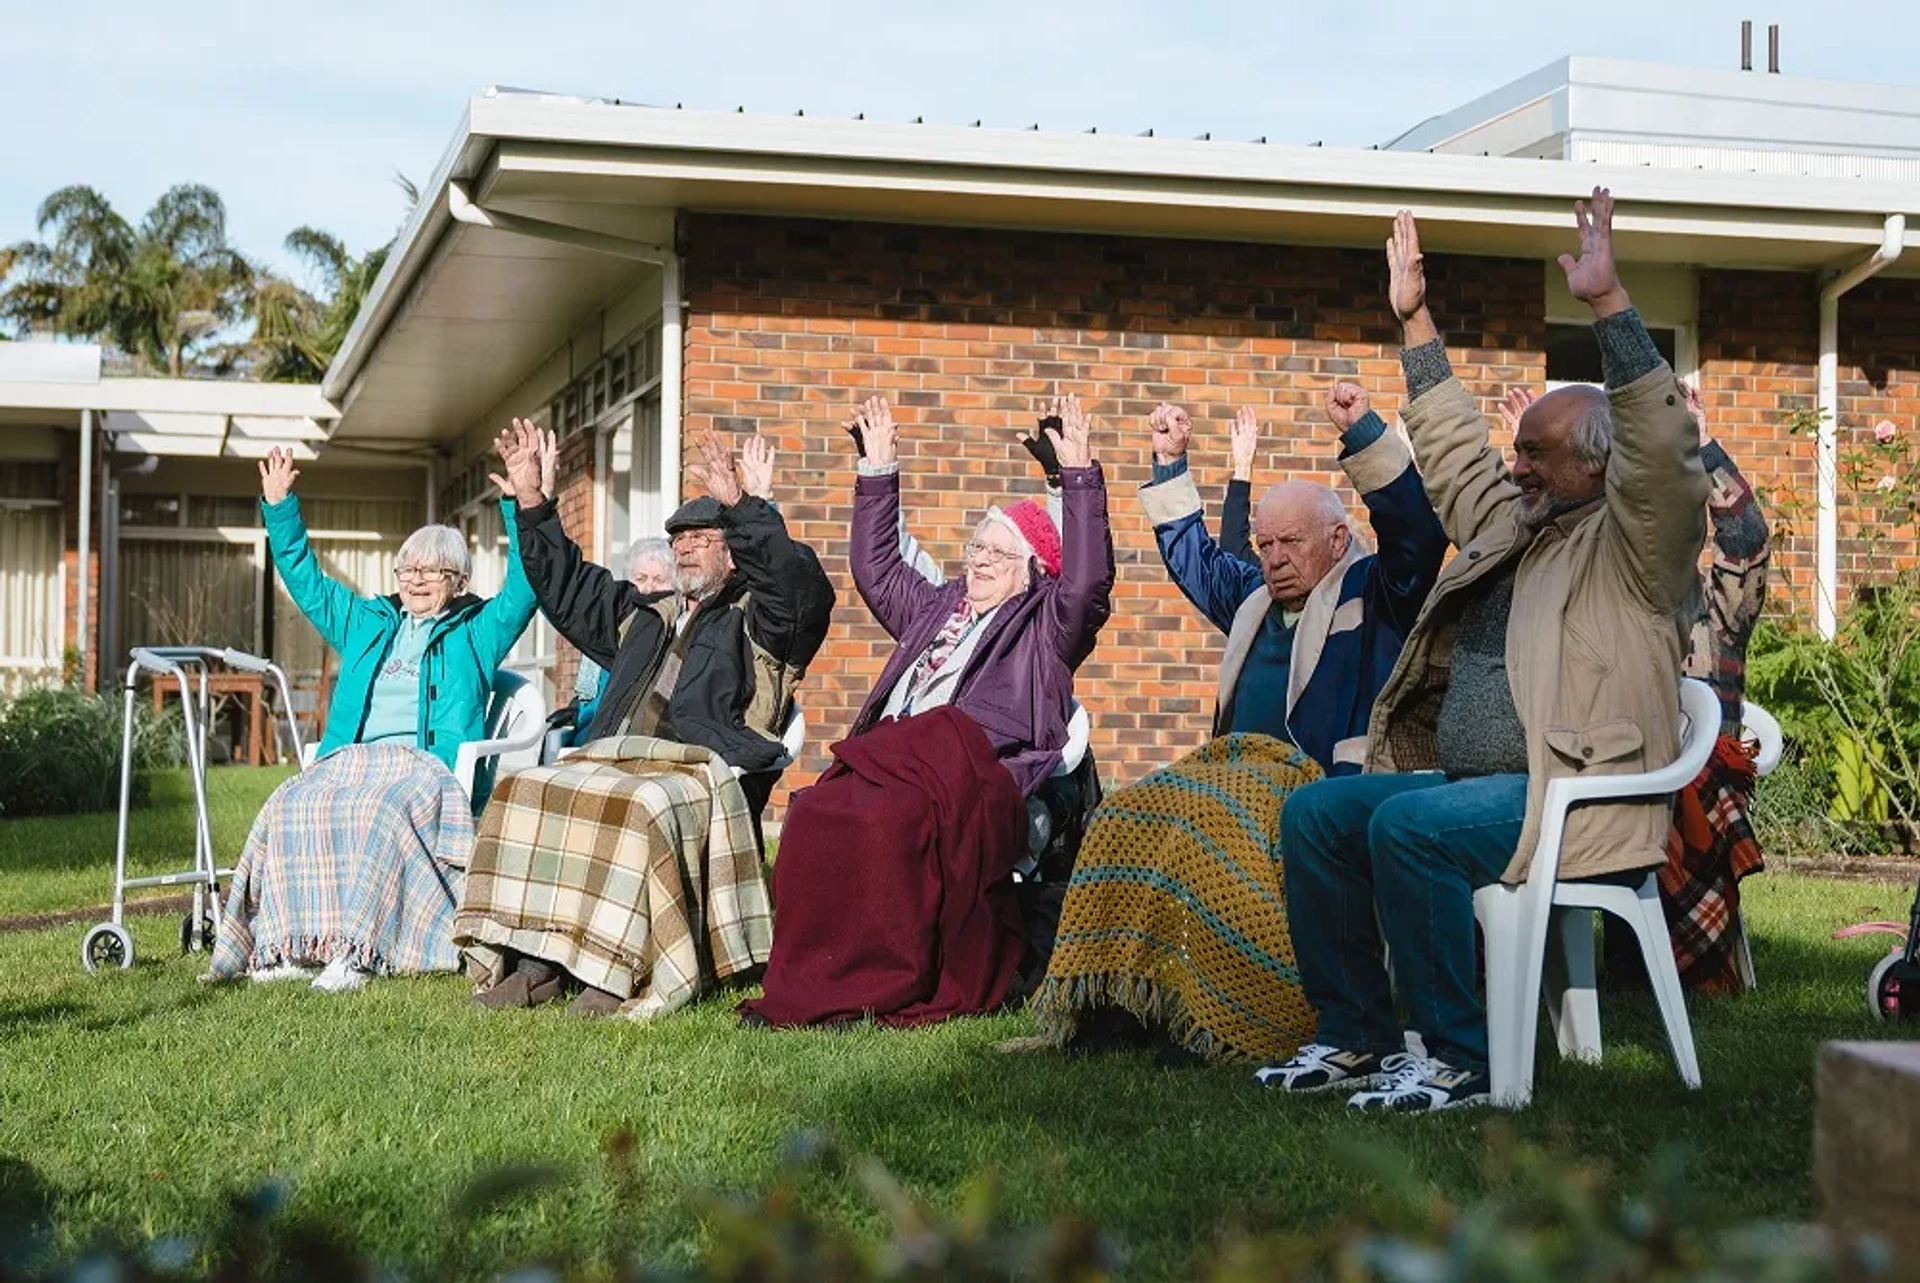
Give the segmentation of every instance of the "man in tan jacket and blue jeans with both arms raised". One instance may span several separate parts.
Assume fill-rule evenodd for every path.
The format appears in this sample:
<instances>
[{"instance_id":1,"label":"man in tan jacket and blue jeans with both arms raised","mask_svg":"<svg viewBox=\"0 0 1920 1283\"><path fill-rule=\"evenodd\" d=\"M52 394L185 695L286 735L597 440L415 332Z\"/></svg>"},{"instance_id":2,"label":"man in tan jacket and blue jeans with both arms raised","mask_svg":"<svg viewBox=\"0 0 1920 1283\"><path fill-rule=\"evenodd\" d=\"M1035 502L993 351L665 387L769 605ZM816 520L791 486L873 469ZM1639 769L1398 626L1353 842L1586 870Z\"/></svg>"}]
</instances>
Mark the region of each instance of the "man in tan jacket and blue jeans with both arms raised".
<instances>
[{"instance_id":1,"label":"man in tan jacket and blue jeans with both arms raised","mask_svg":"<svg viewBox=\"0 0 1920 1283\"><path fill-rule=\"evenodd\" d=\"M1281 816L1286 910L1315 1041L1258 1077L1357 1089L1356 1108L1488 1099L1473 893L1526 876L1548 780L1640 772L1680 739L1680 659L1707 534L1699 428L1613 269L1613 198L1578 204L1567 288L1594 309L1607 390L1561 388L1501 463L1427 311L1413 215L1388 242L1405 327L1405 424L1459 549L1440 572L1367 736L1365 774L1311 784ZM1561 878L1665 862L1668 799L1567 820ZM1379 914L1379 916L1377 916ZM1425 1045L1405 1054L1382 960Z\"/></svg>"}]
</instances>

